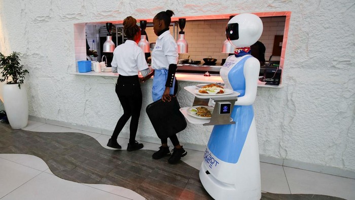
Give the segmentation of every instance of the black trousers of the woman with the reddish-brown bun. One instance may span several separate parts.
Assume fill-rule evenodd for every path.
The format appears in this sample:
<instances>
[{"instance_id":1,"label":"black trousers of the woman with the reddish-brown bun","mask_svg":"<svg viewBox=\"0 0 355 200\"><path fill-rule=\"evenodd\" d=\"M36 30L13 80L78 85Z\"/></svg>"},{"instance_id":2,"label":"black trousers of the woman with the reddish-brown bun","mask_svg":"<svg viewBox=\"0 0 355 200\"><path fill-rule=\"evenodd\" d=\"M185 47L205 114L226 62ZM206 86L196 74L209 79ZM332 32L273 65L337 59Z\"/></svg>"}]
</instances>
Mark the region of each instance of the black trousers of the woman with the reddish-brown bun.
<instances>
[{"instance_id":1,"label":"black trousers of the woman with the reddish-brown bun","mask_svg":"<svg viewBox=\"0 0 355 200\"><path fill-rule=\"evenodd\" d=\"M135 142L140 108L142 105L142 93L140 90L138 75L119 75L116 84L116 94L123 107L123 115L118 120L111 139L117 140L118 134L122 131L128 119L132 117L129 125L129 143L132 144Z\"/></svg>"}]
</instances>

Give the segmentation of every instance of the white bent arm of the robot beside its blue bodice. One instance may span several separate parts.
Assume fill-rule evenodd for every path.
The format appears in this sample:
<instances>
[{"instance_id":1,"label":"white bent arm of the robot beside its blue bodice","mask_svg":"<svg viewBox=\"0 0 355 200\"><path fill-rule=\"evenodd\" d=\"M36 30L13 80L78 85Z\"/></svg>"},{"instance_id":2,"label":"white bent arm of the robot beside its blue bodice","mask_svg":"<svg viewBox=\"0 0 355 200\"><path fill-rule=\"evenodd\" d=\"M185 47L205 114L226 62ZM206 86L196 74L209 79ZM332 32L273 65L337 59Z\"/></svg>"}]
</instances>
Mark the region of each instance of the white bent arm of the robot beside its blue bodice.
<instances>
[{"instance_id":1,"label":"white bent arm of the robot beside its blue bodice","mask_svg":"<svg viewBox=\"0 0 355 200\"><path fill-rule=\"evenodd\" d=\"M244 64L245 94L238 97L234 105L252 105L257 95L260 63L256 58L249 58Z\"/></svg>"}]
</instances>

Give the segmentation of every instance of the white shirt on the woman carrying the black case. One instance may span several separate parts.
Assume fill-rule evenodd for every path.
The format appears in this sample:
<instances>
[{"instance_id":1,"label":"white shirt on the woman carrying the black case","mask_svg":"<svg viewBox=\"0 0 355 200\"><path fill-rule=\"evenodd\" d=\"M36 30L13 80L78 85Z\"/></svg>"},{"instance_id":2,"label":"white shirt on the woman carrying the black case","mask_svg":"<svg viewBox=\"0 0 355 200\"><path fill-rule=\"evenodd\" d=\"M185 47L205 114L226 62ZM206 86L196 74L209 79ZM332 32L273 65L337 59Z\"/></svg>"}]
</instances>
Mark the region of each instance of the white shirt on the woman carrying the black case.
<instances>
[{"instance_id":1,"label":"white shirt on the woman carrying the black case","mask_svg":"<svg viewBox=\"0 0 355 200\"><path fill-rule=\"evenodd\" d=\"M177 64L179 54L175 39L167 30L158 36L152 52L152 68L168 69L169 64Z\"/></svg>"}]
</instances>

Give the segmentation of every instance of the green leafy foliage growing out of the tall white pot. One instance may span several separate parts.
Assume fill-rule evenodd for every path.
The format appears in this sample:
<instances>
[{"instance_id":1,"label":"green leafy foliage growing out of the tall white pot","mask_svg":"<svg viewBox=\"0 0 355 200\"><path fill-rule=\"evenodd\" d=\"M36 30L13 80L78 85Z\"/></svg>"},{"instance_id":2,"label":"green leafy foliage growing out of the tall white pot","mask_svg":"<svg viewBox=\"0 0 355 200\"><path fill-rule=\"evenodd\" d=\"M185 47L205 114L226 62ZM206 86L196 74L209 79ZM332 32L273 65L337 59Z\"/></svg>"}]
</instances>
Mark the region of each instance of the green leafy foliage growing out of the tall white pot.
<instances>
[{"instance_id":1,"label":"green leafy foliage growing out of the tall white pot","mask_svg":"<svg viewBox=\"0 0 355 200\"><path fill-rule=\"evenodd\" d=\"M13 52L9 56L4 56L0 53L0 71L2 73L2 78L0 82L7 82L7 84L18 84L21 89L20 84L23 84L25 74L29 73L26 69L23 69L23 65L20 64L18 52ZM11 77L12 81L9 81Z\"/></svg>"}]
</instances>

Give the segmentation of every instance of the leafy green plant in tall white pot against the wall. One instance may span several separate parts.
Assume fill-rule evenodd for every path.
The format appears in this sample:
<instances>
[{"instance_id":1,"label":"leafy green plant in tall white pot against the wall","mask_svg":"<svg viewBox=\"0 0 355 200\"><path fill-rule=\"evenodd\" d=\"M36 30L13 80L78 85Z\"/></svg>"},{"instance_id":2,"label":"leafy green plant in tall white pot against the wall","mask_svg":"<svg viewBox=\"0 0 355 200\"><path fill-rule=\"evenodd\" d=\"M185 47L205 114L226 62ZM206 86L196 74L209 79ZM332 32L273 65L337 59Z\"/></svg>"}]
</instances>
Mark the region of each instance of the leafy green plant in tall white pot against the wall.
<instances>
[{"instance_id":1,"label":"leafy green plant in tall white pot against the wall","mask_svg":"<svg viewBox=\"0 0 355 200\"><path fill-rule=\"evenodd\" d=\"M28 123L28 100L26 88L23 85L25 74L28 73L20 64L19 53L13 52L9 56L0 53L0 82L3 86L3 100L5 110L13 129L22 129Z\"/></svg>"}]
</instances>

